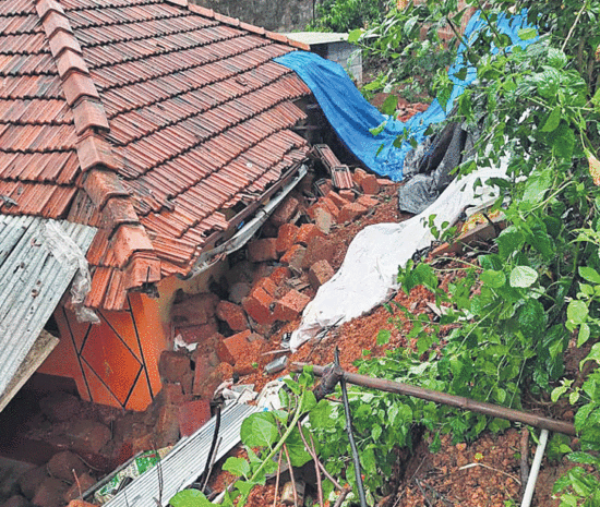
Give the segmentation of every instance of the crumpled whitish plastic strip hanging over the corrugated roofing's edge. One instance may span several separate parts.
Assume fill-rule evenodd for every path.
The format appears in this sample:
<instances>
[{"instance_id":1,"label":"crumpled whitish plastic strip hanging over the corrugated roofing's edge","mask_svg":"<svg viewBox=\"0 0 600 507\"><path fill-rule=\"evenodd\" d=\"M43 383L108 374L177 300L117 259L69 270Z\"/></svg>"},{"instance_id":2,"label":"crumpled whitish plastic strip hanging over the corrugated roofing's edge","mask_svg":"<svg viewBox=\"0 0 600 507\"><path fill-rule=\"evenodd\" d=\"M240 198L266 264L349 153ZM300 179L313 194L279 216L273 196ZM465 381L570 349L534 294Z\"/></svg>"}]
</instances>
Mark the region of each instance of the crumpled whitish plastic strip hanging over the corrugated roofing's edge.
<instances>
[{"instance_id":1,"label":"crumpled whitish plastic strip hanging over the corrugated roofing's edge","mask_svg":"<svg viewBox=\"0 0 600 507\"><path fill-rule=\"evenodd\" d=\"M100 324L96 313L83 305L92 289L92 276L85 255L58 221L49 220L44 228L44 245L63 265L75 265L77 271L71 283L71 303L79 322Z\"/></svg>"}]
</instances>

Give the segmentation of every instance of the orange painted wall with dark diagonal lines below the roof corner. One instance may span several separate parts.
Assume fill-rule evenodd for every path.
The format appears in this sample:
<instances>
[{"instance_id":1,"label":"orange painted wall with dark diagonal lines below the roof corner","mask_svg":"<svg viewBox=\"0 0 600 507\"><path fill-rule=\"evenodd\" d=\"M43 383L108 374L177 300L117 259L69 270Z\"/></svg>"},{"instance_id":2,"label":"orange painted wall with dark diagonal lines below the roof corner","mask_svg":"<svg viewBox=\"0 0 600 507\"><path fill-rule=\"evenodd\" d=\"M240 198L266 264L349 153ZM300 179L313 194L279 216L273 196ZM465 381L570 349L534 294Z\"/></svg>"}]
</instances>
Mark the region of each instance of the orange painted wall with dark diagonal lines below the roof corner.
<instances>
[{"instance_id":1,"label":"orange painted wall with dark diagonal lines below the roof corner","mask_svg":"<svg viewBox=\"0 0 600 507\"><path fill-rule=\"evenodd\" d=\"M97 311L99 325L77 323L59 306L60 342L40 373L72 377L88 401L144 410L160 390L158 359L167 348L160 301L133 293L123 312Z\"/></svg>"}]
</instances>

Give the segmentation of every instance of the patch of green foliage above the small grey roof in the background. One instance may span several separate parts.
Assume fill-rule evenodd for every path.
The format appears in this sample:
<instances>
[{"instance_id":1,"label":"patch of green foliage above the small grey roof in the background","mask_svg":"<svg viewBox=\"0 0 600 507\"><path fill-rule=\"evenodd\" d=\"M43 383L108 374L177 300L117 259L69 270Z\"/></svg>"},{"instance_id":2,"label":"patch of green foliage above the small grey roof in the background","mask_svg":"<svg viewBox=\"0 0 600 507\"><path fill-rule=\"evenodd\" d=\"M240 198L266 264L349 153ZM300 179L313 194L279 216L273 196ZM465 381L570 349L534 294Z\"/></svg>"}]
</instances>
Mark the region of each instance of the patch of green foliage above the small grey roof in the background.
<instances>
[{"instance_id":1,"label":"patch of green foliage above the small grey roof in the background","mask_svg":"<svg viewBox=\"0 0 600 507\"><path fill-rule=\"evenodd\" d=\"M307 29L344 33L364 28L383 19L388 3L387 0L323 0Z\"/></svg>"}]
</instances>

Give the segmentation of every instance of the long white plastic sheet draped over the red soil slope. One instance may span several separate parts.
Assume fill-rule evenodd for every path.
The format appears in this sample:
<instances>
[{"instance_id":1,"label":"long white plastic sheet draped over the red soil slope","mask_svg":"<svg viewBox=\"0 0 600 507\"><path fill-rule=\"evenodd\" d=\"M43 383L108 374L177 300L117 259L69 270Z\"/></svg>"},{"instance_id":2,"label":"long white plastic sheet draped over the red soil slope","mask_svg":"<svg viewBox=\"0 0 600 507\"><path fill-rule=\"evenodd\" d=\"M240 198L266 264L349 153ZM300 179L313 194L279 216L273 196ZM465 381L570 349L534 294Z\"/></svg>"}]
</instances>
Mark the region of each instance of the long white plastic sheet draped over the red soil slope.
<instances>
[{"instance_id":1,"label":"long white plastic sheet draped over the red soil slope","mask_svg":"<svg viewBox=\"0 0 600 507\"><path fill-rule=\"evenodd\" d=\"M400 224L377 224L359 232L339 270L321 286L304 309L300 327L291 336L290 348L295 351L324 327L359 317L389 299L399 288L396 281L398 266L404 266L415 252L434 240L428 227L429 217L435 215L434 224L439 229L444 221L453 224L467 206L480 206L497 197L497 189L488 185L487 180L505 174L503 167L480 169L460 180L455 179L420 215ZM476 182L478 185L473 189Z\"/></svg>"}]
</instances>

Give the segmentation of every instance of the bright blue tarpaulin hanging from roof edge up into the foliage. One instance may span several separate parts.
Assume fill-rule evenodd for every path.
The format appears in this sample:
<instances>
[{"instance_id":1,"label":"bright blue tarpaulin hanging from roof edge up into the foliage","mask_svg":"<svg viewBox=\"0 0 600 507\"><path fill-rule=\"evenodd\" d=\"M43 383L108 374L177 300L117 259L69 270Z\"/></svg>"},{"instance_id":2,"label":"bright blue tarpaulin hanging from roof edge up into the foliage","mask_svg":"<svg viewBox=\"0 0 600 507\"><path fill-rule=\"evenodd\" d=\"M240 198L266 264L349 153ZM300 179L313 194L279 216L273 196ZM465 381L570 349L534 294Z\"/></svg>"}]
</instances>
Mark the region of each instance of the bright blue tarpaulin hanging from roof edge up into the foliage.
<instances>
[{"instance_id":1,"label":"bright blue tarpaulin hanging from roof edge up into the foliage","mask_svg":"<svg viewBox=\"0 0 600 507\"><path fill-rule=\"evenodd\" d=\"M535 40L524 41L518 37L518 29L526 24L525 12L508 20L501 15L497 21L499 31L508 35L513 44L521 47ZM484 20L477 12L467 25L465 39L471 43L484 26ZM435 99L424 112L415 114L407 122L388 118L371 106L338 63L305 51L293 51L276 58L275 61L293 70L304 81L341 141L367 167L379 174L400 181L404 159L411 145L404 141L401 146L396 148L393 143L396 137L404 134L405 129L409 129L410 137L421 143L425 138L424 132L429 125L445 120L456 98L477 77L476 69L464 63L465 49L463 45L459 47L455 63L448 70L449 79L455 85L446 108L444 109ZM467 75L465 80L458 80L455 74L464 67L467 67ZM370 129L375 129L384 121L385 129L374 136ZM380 150L382 144L383 148Z\"/></svg>"}]
</instances>

